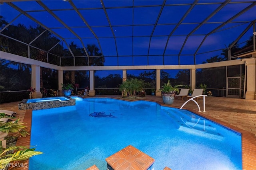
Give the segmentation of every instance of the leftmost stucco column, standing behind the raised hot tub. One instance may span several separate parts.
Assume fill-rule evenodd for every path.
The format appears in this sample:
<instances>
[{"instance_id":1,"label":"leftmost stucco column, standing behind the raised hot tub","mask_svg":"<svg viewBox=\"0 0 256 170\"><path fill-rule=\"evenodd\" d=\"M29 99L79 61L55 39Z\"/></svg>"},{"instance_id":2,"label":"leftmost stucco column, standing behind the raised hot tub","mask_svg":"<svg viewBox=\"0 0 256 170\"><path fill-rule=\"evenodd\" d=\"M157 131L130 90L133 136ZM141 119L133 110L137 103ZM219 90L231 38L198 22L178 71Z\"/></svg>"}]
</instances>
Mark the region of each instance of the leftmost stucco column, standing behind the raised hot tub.
<instances>
[{"instance_id":1,"label":"leftmost stucco column, standing behind the raised hot tub","mask_svg":"<svg viewBox=\"0 0 256 170\"><path fill-rule=\"evenodd\" d=\"M36 89L33 93L33 98L42 98L42 93L40 92L40 66L32 65L32 88Z\"/></svg>"}]
</instances>

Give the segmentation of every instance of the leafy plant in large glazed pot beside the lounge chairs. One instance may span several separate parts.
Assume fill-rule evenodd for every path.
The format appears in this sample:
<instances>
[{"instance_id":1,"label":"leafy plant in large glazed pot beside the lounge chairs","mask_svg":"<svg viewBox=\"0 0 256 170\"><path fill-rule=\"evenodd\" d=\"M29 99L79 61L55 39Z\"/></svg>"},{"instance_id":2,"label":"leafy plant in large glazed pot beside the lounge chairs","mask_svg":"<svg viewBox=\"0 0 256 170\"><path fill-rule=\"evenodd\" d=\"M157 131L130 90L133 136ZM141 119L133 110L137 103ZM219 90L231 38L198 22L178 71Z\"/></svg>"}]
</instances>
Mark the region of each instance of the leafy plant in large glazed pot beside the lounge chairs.
<instances>
[{"instance_id":1,"label":"leafy plant in large glazed pot beside the lounge chairs","mask_svg":"<svg viewBox=\"0 0 256 170\"><path fill-rule=\"evenodd\" d=\"M170 80L168 80L167 83L164 83L162 88L159 89L159 91L162 93L164 104L173 104L176 92L180 91L178 89L180 86L183 85L172 86L172 84L170 84Z\"/></svg>"}]
</instances>

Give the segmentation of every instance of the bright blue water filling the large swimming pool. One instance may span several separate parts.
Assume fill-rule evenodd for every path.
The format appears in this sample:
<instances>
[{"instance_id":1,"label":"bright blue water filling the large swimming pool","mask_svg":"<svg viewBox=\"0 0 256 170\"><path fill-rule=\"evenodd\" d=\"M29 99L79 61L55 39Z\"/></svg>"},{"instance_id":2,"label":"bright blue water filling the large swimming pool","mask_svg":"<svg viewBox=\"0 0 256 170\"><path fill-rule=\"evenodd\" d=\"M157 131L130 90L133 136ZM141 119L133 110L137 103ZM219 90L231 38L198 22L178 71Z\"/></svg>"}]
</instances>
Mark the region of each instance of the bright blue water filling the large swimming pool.
<instances>
[{"instance_id":1,"label":"bright blue water filling the large swimming pool","mask_svg":"<svg viewBox=\"0 0 256 170\"><path fill-rule=\"evenodd\" d=\"M154 102L87 98L33 111L31 145L44 154L30 170L105 170L105 158L128 145L154 158L154 170L242 169L240 134Z\"/></svg>"}]
</instances>

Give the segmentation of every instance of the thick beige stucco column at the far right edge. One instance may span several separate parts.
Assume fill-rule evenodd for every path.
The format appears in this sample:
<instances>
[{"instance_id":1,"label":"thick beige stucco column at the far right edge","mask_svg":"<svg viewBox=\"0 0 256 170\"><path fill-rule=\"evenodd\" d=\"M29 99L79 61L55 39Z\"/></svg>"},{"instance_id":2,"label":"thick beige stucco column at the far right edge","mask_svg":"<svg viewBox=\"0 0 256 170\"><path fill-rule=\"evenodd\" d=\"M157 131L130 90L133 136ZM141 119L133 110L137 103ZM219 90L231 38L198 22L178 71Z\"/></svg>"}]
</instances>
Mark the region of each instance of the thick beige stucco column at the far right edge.
<instances>
[{"instance_id":1,"label":"thick beige stucco column at the far right edge","mask_svg":"<svg viewBox=\"0 0 256 170\"><path fill-rule=\"evenodd\" d=\"M246 86L245 99L256 99L256 58L244 59L246 65Z\"/></svg>"}]
</instances>

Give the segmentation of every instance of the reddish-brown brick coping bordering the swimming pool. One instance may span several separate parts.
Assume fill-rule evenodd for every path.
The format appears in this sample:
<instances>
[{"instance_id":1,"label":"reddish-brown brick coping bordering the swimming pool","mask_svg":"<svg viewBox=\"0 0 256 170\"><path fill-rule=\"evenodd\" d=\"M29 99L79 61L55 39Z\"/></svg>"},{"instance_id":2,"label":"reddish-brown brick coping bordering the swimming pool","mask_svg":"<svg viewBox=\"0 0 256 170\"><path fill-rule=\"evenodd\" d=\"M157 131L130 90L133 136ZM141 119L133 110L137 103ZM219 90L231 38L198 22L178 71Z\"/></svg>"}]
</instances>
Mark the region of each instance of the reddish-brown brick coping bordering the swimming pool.
<instances>
[{"instance_id":1,"label":"reddish-brown brick coping bordering the swimming pool","mask_svg":"<svg viewBox=\"0 0 256 170\"><path fill-rule=\"evenodd\" d=\"M90 98L112 98L116 100L124 100L127 102L136 102L136 101L147 101L147 102L155 102L159 104L160 106L166 106L166 107L173 107L178 108L171 105L162 104L157 101L147 100L147 99L140 99L140 100L125 100L122 98L114 98L114 97L90 97ZM179 108L178 108L179 109ZM248 131L245 131L243 129L240 129L239 127L235 127L234 125L231 125L229 123L226 123L224 121L218 120L214 117L211 117L209 115L204 114L203 112L199 112L195 109L189 109L184 107L183 109L186 109L188 111L191 111L192 113L195 113L197 115L200 115L206 119L209 119L210 121L214 121L224 127L227 127L229 129L232 129L238 133L241 133L242 138L242 170L256 170L256 137L253 133L250 133ZM31 125L32 125L32 110L26 110L25 116L24 116L24 123L26 123L26 126L28 127L28 132L31 133ZM28 146L30 145L30 136L27 136L25 138L19 137L16 143L17 146ZM29 160L22 161L22 163L29 163ZM9 168L9 170L14 170L13 168ZM15 170L28 170L27 167L15 167Z\"/></svg>"}]
</instances>

